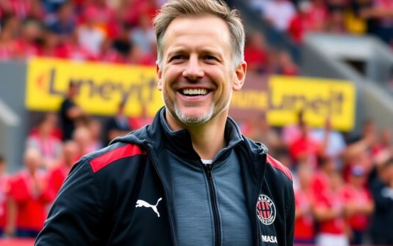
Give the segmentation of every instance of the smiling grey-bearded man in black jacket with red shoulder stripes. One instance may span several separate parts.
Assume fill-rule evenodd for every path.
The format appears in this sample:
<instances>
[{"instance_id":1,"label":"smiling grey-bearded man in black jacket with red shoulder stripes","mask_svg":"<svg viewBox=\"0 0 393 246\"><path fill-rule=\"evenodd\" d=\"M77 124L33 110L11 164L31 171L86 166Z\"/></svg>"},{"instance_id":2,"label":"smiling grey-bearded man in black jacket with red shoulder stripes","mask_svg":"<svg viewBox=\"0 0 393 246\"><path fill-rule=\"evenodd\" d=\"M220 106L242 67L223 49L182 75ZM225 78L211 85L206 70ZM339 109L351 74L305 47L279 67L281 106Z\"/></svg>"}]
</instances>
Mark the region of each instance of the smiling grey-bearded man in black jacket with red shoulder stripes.
<instances>
[{"instance_id":1,"label":"smiling grey-bearded man in black jacket with red shoulder stripes","mask_svg":"<svg viewBox=\"0 0 393 246\"><path fill-rule=\"evenodd\" d=\"M154 24L165 107L75 164L36 245L292 245L291 174L228 118L246 70L236 11L172 0Z\"/></svg>"}]
</instances>

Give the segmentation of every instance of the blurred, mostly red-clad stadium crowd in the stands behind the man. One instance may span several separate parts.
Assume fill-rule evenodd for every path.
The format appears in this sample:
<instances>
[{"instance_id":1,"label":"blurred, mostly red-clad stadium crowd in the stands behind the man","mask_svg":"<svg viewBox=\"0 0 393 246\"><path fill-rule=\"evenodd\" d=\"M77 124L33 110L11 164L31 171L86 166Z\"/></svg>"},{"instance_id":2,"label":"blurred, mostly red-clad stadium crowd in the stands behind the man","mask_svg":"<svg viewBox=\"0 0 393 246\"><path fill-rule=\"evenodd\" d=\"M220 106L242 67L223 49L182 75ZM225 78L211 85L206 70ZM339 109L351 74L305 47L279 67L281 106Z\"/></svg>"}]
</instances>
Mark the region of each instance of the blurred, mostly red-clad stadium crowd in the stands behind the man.
<instances>
[{"instance_id":1,"label":"blurred, mostly red-clad stadium crowd in the stands behind the man","mask_svg":"<svg viewBox=\"0 0 393 246\"><path fill-rule=\"evenodd\" d=\"M0 60L31 57L65 58L133 65L155 65L151 18L159 0L0 0ZM393 38L392 0L249 0L278 31L295 43L304 33L372 33L387 43ZM286 50L270 46L259 31L248 31L248 70L298 75ZM35 237L50 204L74 161L114 137L150 122L124 115L124 105L111 119L96 119L74 103L70 85L59 112L46 113L31 129L24 146L24 167L6 173L0 156L0 228L3 235ZM144 110L143 110L144 111ZM349 238L353 245L393 245L393 145L389 129L363 124L358 137L331 128L298 122L282 128L265 115L239 122L243 134L261 141L294 176L295 240Z\"/></svg>"}]
</instances>

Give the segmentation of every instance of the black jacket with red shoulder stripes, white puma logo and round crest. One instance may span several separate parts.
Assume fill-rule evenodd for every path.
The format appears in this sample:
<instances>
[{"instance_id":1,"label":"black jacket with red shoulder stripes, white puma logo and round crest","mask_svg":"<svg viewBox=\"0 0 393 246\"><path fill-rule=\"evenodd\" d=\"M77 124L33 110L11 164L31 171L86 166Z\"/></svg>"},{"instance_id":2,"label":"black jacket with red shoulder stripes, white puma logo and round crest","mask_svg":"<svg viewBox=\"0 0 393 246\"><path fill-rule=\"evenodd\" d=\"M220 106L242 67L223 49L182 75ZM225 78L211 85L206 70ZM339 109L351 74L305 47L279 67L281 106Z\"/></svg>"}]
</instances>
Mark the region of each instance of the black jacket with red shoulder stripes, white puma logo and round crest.
<instances>
[{"instance_id":1,"label":"black jacket with red shoulder stripes, white puma logo and round crest","mask_svg":"<svg viewBox=\"0 0 393 246\"><path fill-rule=\"evenodd\" d=\"M74 165L35 245L177 245L173 187L165 156L170 148L182 149L180 157L199 156L187 144L191 143L189 133L165 132L160 117L159 112L153 124ZM167 144L172 138L183 139L184 145ZM247 181L245 198L254 245L292 246L294 193L289 170L268 156L265 146L246 137L235 151ZM135 213L138 199L154 205L157 197L162 198L157 205L159 218L150 210Z\"/></svg>"}]
</instances>

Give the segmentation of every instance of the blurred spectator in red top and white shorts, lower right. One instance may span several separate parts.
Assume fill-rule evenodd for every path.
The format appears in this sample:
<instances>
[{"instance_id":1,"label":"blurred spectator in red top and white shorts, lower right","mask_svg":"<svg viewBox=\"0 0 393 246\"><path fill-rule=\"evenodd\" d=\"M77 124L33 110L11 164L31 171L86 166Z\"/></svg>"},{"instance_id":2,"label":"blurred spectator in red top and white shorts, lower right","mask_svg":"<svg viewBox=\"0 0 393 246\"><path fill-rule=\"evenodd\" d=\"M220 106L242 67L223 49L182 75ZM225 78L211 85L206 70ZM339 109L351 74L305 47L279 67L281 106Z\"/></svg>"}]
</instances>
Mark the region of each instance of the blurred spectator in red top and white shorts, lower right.
<instances>
[{"instance_id":1,"label":"blurred spectator in red top and white shorts, lower right","mask_svg":"<svg viewBox=\"0 0 393 246\"><path fill-rule=\"evenodd\" d=\"M329 186L314 201L314 215L319 223L316 245L348 246L345 235L343 181L340 173L333 171L328 176Z\"/></svg>"}]
</instances>

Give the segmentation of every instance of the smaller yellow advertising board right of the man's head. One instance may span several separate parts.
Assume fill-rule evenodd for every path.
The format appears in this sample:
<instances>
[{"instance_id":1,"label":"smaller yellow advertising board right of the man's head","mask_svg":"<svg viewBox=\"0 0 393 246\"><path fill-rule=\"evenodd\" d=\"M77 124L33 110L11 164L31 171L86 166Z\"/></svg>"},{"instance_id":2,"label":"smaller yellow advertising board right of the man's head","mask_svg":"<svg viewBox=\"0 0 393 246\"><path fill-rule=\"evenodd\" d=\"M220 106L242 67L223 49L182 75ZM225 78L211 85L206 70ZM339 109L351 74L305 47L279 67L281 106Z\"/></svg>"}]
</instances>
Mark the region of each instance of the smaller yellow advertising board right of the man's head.
<instances>
[{"instance_id":1,"label":"smaller yellow advertising board right of the man's head","mask_svg":"<svg viewBox=\"0 0 393 246\"><path fill-rule=\"evenodd\" d=\"M296 122L296 114L302 109L306 122L312 126L323 126L326 117L330 117L334 129L353 129L355 87L348 81L272 76L268 90L270 124Z\"/></svg>"}]
</instances>

